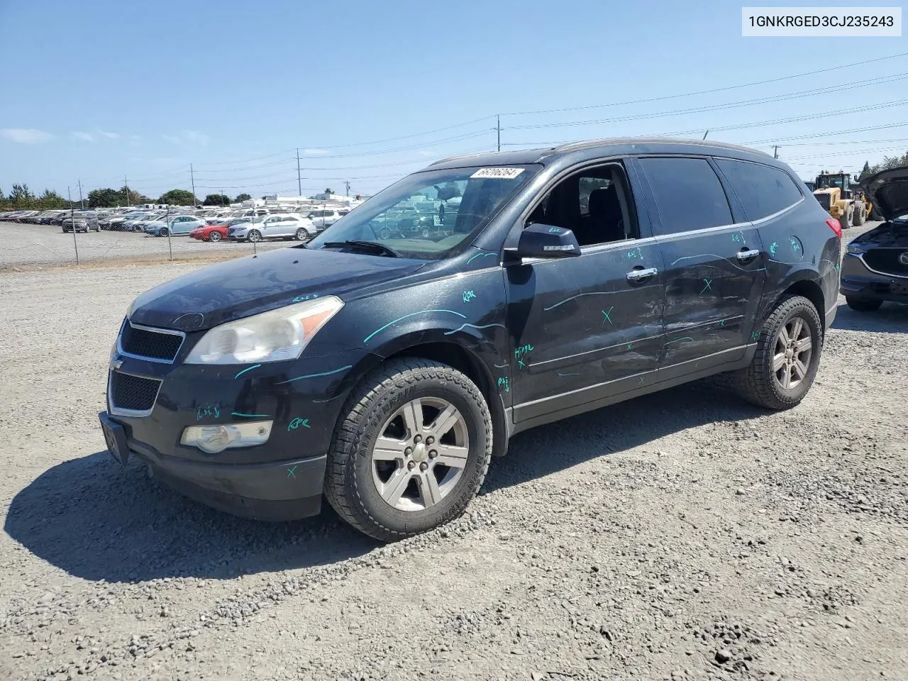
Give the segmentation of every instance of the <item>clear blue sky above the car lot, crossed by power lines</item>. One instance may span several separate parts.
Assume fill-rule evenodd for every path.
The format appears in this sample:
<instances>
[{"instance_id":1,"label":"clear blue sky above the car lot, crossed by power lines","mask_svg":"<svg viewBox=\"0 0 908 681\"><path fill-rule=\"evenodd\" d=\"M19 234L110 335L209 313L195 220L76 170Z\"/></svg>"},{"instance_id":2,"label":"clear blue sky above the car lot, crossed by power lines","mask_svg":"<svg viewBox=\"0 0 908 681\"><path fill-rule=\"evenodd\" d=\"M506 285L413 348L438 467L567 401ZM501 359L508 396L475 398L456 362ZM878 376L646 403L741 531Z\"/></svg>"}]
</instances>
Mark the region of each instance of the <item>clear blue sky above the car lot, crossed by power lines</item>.
<instances>
[{"instance_id":1,"label":"clear blue sky above the car lot, crossed by power lines","mask_svg":"<svg viewBox=\"0 0 908 681\"><path fill-rule=\"evenodd\" d=\"M192 163L200 197L296 194L299 148L304 193L371 193L493 150L495 114L506 149L710 129L778 143L804 178L908 150L908 54L622 104L908 53L902 37L745 38L728 2L0 0L0 26L4 192L126 175L156 197L189 189ZM552 111L571 107L595 108ZM765 124L799 116L822 117Z\"/></svg>"}]
</instances>

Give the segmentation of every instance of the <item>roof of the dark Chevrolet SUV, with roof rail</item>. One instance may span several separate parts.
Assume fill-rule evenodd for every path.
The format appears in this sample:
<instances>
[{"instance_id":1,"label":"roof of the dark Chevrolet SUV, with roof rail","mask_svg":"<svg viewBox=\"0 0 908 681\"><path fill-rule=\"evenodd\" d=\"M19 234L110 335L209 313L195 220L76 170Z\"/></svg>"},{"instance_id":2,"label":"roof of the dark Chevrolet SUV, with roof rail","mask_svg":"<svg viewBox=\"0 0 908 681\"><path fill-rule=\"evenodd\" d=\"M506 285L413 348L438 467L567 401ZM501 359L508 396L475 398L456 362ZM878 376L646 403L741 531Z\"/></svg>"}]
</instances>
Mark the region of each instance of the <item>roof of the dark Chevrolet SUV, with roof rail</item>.
<instances>
[{"instance_id":1,"label":"roof of the dark Chevrolet SUV, with roof rail","mask_svg":"<svg viewBox=\"0 0 908 681\"><path fill-rule=\"evenodd\" d=\"M582 161L595 159L599 156L616 156L631 153L707 154L730 156L744 161L759 161L760 163L768 161L774 165L780 164L768 153L738 144L667 137L613 137L511 152L481 152L449 156L435 163L430 163L423 170L478 165L526 165L531 163L554 165L568 158L572 161Z\"/></svg>"}]
</instances>

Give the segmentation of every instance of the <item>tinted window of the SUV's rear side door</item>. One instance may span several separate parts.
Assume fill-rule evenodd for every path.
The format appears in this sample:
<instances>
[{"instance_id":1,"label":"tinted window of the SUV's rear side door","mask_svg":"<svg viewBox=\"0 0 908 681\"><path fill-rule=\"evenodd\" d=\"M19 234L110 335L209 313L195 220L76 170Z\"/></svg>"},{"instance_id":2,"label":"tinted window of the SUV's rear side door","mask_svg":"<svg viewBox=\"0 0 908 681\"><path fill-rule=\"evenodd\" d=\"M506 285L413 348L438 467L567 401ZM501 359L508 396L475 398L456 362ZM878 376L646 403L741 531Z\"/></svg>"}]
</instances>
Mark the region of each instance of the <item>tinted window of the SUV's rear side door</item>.
<instances>
[{"instance_id":1,"label":"tinted window of the SUV's rear side door","mask_svg":"<svg viewBox=\"0 0 908 681\"><path fill-rule=\"evenodd\" d=\"M643 158L640 164L653 188L659 233L671 234L732 224L725 190L712 167L698 158Z\"/></svg>"}]
</instances>

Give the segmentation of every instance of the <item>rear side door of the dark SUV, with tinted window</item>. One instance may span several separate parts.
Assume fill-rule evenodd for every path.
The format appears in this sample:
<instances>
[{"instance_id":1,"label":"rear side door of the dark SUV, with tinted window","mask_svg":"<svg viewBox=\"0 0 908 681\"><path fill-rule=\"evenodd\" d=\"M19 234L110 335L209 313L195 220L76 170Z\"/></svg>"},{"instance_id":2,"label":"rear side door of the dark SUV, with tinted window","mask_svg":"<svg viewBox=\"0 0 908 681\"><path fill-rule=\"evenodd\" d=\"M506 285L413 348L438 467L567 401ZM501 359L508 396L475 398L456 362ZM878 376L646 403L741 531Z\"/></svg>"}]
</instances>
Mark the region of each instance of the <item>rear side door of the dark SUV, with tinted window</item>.
<instances>
[{"instance_id":1,"label":"rear side door of the dark SUV, with tinted window","mask_svg":"<svg viewBox=\"0 0 908 681\"><path fill-rule=\"evenodd\" d=\"M744 357L765 287L760 234L706 157L637 159L666 266L661 380Z\"/></svg>"}]
</instances>

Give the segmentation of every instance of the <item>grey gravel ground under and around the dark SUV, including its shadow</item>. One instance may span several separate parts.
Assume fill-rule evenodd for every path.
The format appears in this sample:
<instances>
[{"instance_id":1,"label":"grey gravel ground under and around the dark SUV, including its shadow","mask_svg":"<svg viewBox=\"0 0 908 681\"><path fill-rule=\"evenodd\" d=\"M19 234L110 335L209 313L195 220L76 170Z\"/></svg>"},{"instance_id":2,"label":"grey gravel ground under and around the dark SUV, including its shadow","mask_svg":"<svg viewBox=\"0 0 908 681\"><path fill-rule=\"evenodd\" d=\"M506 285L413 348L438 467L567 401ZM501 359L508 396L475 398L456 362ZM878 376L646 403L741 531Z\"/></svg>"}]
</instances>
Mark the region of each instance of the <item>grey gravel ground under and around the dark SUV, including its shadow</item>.
<instances>
[{"instance_id":1,"label":"grey gravel ground under and around the dark SUV, including its shadow","mask_svg":"<svg viewBox=\"0 0 908 681\"><path fill-rule=\"evenodd\" d=\"M840 301L795 410L701 381L531 430L382 547L109 459L123 311L191 270L0 274L0 677L908 678L908 307Z\"/></svg>"}]
</instances>

